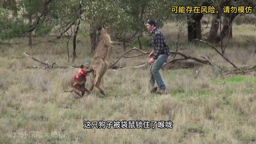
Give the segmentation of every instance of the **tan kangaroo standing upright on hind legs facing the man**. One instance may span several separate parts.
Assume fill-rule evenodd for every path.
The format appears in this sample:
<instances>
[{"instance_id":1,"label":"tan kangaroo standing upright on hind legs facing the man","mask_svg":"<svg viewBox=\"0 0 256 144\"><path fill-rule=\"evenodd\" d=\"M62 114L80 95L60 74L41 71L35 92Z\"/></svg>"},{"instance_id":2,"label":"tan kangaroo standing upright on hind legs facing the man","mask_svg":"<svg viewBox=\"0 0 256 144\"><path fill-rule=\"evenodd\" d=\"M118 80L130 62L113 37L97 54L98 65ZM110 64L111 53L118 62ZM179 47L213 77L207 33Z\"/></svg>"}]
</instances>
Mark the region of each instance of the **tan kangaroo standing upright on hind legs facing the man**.
<instances>
[{"instance_id":1,"label":"tan kangaroo standing upright on hind legs facing the man","mask_svg":"<svg viewBox=\"0 0 256 144\"><path fill-rule=\"evenodd\" d=\"M105 72L108 69L108 62L106 61L109 48L116 48L112 44L120 44L120 42L114 42L110 40L110 36L108 33L111 33L112 30L110 28L102 28L100 32L100 40L96 46L95 54L92 58L91 68L93 69L90 74L91 86L90 92L92 92L94 86L100 90L100 93L104 94L104 90L100 88L100 81L104 76Z\"/></svg>"}]
</instances>

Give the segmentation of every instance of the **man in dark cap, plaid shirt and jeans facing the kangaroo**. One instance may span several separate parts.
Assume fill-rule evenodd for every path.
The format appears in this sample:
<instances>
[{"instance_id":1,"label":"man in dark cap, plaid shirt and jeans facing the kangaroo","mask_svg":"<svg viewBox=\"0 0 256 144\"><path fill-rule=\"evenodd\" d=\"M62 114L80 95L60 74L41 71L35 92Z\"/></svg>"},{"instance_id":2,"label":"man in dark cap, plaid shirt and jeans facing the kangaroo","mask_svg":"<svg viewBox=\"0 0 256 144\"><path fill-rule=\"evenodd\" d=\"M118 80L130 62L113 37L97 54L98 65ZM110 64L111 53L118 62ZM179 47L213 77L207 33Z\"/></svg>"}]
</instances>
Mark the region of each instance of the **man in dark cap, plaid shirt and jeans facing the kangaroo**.
<instances>
[{"instance_id":1,"label":"man in dark cap, plaid shirt and jeans facing the kangaroo","mask_svg":"<svg viewBox=\"0 0 256 144\"><path fill-rule=\"evenodd\" d=\"M154 88L154 84L156 81L156 84L160 89L160 94L166 94L166 86L162 80L159 70L170 55L169 47L166 44L166 39L162 32L158 28L156 28L155 20L148 20L146 23L146 27L149 31L151 31L152 45L154 46L153 51L149 54L149 64L152 64L152 66L150 67L150 84L153 88L151 92L156 92L157 90L157 87Z\"/></svg>"}]
</instances>

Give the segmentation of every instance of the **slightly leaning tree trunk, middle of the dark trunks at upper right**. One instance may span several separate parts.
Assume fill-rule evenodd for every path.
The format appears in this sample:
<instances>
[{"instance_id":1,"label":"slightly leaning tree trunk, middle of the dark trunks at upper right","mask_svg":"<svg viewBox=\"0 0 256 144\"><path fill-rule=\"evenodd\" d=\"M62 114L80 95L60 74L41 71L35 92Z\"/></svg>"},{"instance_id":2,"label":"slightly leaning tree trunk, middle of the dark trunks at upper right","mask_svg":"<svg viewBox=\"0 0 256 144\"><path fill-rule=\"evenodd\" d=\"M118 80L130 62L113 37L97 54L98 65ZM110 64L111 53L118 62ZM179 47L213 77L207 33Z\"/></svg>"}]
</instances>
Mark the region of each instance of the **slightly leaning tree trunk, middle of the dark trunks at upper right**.
<instances>
[{"instance_id":1,"label":"slightly leaning tree trunk, middle of the dark trunks at upper right","mask_svg":"<svg viewBox=\"0 0 256 144\"><path fill-rule=\"evenodd\" d=\"M212 26L210 29L210 33L208 35L207 41L208 42L220 42L220 38L218 38L217 33L219 29L219 20L220 20L220 14L213 14L212 18Z\"/></svg>"}]
</instances>

